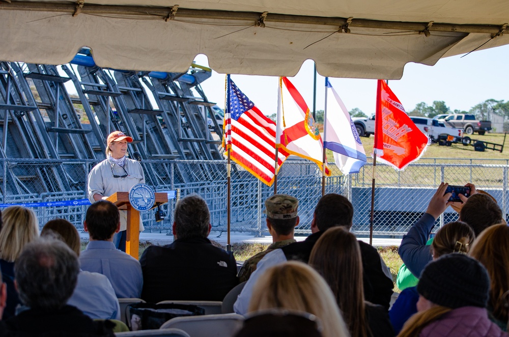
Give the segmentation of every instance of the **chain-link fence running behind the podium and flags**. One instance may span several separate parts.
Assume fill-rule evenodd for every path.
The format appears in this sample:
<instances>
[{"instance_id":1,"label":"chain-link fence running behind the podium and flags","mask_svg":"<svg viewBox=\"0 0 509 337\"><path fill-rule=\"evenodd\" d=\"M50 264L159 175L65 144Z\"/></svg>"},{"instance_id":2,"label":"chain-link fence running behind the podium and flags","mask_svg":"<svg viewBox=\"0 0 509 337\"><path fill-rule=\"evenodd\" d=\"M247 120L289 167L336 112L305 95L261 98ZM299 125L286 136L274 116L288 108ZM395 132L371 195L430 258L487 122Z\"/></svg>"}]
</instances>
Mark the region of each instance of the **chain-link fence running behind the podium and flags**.
<instances>
[{"instance_id":1,"label":"chain-link fence running behind the podium and flags","mask_svg":"<svg viewBox=\"0 0 509 337\"><path fill-rule=\"evenodd\" d=\"M3 204L28 204L87 199L87 179L98 160L0 159ZM143 162L147 184L156 191L180 189L180 195L196 193L207 201L214 231L227 231L226 161L146 160ZM377 164L374 233L379 236L405 234L425 212L429 199L441 181L451 185L473 182L489 192L507 215L509 160L421 159L398 172ZM326 193L340 193L352 202L353 231L368 234L370 229L373 166L365 165L358 174L342 176L337 167L325 179ZM262 235L265 229L264 201L273 193L268 187L232 162L231 231ZM322 190L321 171L305 160L287 160L281 166L278 193L299 199L300 224L296 233L310 233L310 222ZM155 221L154 210L142 213L146 231L170 232L175 200L161 208L165 219ZM87 206L34 207L40 227L55 217L66 218L78 229L83 227ZM455 220L450 208L437 222Z\"/></svg>"}]
</instances>

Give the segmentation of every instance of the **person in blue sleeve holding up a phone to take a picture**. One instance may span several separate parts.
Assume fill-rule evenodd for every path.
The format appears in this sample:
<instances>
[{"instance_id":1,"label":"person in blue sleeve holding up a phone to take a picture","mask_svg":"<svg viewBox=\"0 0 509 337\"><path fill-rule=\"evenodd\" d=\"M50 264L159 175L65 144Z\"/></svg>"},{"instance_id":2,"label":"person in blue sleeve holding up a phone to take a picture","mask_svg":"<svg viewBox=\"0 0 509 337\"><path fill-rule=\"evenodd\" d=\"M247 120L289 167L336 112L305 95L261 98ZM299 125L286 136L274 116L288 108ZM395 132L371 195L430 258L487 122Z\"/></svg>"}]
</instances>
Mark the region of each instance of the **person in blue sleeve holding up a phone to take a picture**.
<instances>
[{"instance_id":1,"label":"person in blue sleeve holding up a phone to take a picture","mask_svg":"<svg viewBox=\"0 0 509 337\"><path fill-rule=\"evenodd\" d=\"M450 193L444 195L448 184L441 183L435 194L430 200L426 213L410 228L407 235L403 236L398 250L399 255L406 267L416 277L420 275L422 269L431 261L431 252L426 241L429 239L435 220L438 219L449 205L456 203L448 202ZM459 221L466 222L475 235L478 235L484 229L493 224L502 223L502 211L491 196L477 193L473 184L470 186L471 195L467 199L460 194L460 199L464 201L459 214Z\"/></svg>"}]
</instances>

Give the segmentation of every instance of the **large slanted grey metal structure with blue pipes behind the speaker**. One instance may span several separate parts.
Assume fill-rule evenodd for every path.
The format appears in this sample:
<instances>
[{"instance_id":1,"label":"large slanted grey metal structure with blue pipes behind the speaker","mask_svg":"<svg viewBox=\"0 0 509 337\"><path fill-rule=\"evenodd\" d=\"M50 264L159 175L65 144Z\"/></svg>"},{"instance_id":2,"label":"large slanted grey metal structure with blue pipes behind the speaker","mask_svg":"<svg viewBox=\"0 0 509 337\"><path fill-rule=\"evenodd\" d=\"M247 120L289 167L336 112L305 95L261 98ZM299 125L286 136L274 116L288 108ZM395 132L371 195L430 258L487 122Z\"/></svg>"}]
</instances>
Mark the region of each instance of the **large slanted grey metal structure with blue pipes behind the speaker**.
<instances>
[{"instance_id":1,"label":"large slanted grey metal structure with blue pipes behind the speaker","mask_svg":"<svg viewBox=\"0 0 509 337\"><path fill-rule=\"evenodd\" d=\"M225 172L204 163L222 159L222 129L214 118L214 135L207 126L215 103L200 88L210 75L195 65L187 73L102 69L85 49L66 65L0 62L0 158L11 160L2 167L2 194L31 199L82 191L89 167L71 170L61 159L105 158L105 139L114 130L133 138L128 150L140 153L153 186L193 181L192 171L169 172L150 163L155 159L195 160L195 169L211 176ZM21 167L16 158L54 162Z\"/></svg>"}]
</instances>

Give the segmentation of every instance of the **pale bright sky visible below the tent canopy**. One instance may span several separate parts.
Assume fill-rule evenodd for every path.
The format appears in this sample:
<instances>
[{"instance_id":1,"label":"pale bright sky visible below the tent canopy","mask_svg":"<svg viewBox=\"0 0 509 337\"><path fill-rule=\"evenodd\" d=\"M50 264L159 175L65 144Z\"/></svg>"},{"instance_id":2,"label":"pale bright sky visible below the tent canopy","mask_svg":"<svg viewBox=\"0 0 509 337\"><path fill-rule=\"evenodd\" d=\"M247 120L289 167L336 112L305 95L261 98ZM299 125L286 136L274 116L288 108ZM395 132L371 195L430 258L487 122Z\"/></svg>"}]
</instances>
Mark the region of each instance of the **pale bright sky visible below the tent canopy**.
<instances>
[{"instance_id":1,"label":"pale bright sky visible below the tent canopy","mask_svg":"<svg viewBox=\"0 0 509 337\"><path fill-rule=\"evenodd\" d=\"M407 112L415 105L425 102L445 101L451 109L468 111L478 103L493 98L509 100L509 45L474 51L465 57L461 55L440 59L434 66L408 63L400 80L389 80L389 87L400 99ZM195 62L208 66L205 55L197 55ZM290 77L294 86L304 97L313 111L314 63L307 60L299 73ZM212 72L202 83L209 101L224 107L224 74ZM235 75L232 80L239 89L267 116L277 110L277 77ZM330 82L346 107L361 109L370 116L375 113L376 80L354 78L330 78ZM317 77L316 109L323 110L325 98L324 77Z\"/></svg>"}]
</instances>

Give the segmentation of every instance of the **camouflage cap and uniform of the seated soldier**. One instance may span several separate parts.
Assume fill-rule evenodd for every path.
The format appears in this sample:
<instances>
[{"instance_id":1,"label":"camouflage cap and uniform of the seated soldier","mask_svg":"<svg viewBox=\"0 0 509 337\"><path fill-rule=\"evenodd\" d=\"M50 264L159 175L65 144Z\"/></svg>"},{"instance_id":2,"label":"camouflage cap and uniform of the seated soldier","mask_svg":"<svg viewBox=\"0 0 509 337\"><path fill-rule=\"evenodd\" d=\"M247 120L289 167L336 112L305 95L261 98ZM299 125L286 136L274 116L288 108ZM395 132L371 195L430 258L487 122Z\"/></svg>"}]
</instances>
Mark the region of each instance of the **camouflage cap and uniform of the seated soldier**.
<instances>
[{"instance_id":1,"label":"camouflage cap and uniform of the seated soldier","mask_svg":"<svg viewBox=\"0 0 509 337\"><path fill-rule=\"evenodd\" d=\"M299 201L288 194L274 194L265 201L265 210L268 218L272 219L292 219L297 217L297 206ZM239 282L247 281L251 273L256 270L256 266L263 257L270 251L296 242L294 239L288 239L272 243L266 250L247 259L239 271Z\"/></svg>"}]
</instances>

